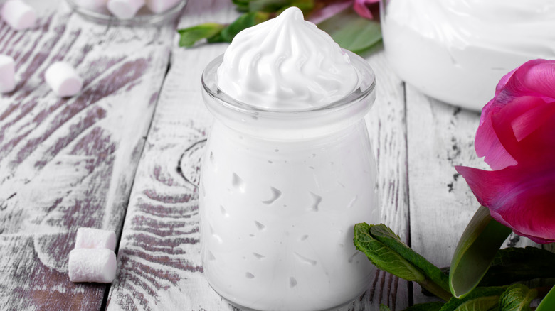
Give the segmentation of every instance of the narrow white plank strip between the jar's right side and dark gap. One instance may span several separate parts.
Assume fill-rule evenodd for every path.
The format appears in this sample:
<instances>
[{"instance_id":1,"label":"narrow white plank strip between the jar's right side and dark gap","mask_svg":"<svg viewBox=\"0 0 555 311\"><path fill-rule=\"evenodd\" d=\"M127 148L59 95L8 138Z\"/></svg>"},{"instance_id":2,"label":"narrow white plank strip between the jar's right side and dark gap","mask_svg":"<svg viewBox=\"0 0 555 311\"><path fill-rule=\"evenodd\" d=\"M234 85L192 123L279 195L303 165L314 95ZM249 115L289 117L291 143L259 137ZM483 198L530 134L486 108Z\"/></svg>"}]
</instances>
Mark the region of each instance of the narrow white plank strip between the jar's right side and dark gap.
<instances>
[{"instance_id":1,"label":"narrow white plank strip between the jar's right side and dark gap","mask_svg":"<svg viewBox=\"0 0 555 311\"><path fill-rule=\"evenodd\" d=\"M376 73L376 102L366 125L379 171L381 221L408 244L408 180L406 163L406 118L403 82L393 73L383 49L367 57ZM406 280L380 271L369 291L371 310L380 303L391 310L408 307Z\"/></svg>"}]
</instances>

